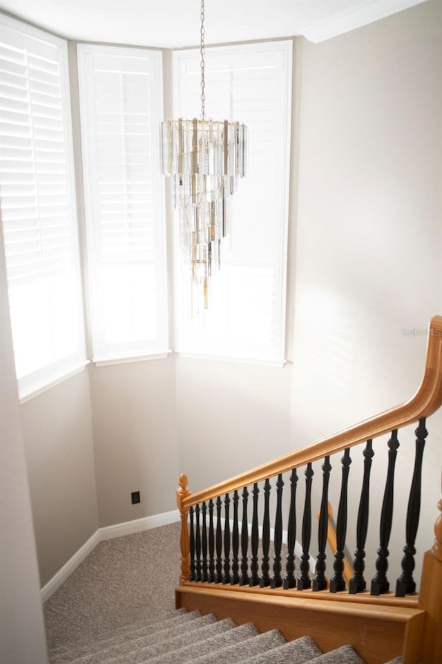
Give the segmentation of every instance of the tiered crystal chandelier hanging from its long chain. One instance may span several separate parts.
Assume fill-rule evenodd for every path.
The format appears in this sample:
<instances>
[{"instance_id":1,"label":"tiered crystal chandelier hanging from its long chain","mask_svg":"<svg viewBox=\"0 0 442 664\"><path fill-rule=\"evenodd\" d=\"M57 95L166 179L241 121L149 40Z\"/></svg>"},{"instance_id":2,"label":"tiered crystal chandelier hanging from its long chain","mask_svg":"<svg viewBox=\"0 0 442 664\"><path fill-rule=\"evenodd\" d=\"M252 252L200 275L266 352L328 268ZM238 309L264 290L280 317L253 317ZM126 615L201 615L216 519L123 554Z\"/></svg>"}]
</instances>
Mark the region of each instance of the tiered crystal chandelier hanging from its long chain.
<instances>
[{"instance_id":1,"label":"tiered crystal chandelier hanging from its long chain","mask_svg":"<svg viewBox=\"0 0 442 664\"><path fill-rule=\"evenodd\" d=\"M201 118L160 126L162 174L173 178L180 241L191 270L193 311L209 306L209 279L220 268L220 244L229 228L229 199L246 174L247 127L206 120L204 0L201 0Z\"/></svg>"}]
</instances>

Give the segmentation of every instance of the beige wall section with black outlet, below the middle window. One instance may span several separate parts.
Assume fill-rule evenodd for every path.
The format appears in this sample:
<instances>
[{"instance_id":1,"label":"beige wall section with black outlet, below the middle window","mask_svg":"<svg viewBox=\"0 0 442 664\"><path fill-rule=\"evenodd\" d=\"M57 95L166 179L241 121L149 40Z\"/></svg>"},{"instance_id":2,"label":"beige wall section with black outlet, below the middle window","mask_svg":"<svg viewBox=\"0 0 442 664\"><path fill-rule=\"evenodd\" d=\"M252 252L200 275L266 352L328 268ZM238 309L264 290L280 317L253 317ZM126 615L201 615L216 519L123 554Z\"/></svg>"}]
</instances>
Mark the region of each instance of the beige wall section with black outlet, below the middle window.
<instances>
[{"instance_id":1,"label":"beige wall section with black outlet, below the middle window","mask_svg":"<svg viewBox=\"0 0 442 664\"><path fill-rule=\"evenodd\" d=\"M173 358L91 373L99 525L176 508L178 449ZM131 504L139 490L140 504Z\"/></svg>"}]
</instances>

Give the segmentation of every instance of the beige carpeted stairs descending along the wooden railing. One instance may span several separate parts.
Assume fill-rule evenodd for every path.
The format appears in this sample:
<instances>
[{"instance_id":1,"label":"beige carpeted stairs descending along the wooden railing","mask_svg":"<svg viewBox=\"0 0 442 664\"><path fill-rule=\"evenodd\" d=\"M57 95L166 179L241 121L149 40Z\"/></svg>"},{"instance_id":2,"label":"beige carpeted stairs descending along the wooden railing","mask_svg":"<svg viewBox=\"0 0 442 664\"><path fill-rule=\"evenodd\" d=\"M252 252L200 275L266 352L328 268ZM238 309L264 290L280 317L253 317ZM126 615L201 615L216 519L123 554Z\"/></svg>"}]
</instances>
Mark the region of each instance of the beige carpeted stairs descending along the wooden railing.
<instances>
[{"instance_id":1,"label":"beige carpeted stairs descending along the wooden railing","mask_svg":"<svg viewBox=\"0 0 442 664\"><path fill-rule=\"evenodd\" d=\"M349 645L321 653L308 636L287 643L278 629L184 609L137 620L50 649L50 664L364 664ZM401 658L394 660L401 664Z\"/></svg>"}]
</instances>

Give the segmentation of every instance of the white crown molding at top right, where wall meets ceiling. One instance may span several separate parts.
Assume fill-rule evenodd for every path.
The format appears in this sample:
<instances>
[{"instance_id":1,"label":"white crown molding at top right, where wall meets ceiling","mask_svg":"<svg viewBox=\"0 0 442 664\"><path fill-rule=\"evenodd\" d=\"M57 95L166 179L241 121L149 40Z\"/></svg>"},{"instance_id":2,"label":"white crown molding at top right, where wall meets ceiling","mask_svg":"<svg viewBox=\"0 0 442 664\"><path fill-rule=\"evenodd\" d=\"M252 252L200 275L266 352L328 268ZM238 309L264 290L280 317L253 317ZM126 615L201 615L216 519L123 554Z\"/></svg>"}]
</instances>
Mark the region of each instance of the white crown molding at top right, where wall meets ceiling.
<instances>
[{"instance_id":1,"label":"white crown molding at top right, where wall meets ceiling","mask_svg":"<svg viewBox=\"0 0 442 664\"><path fill-rule=\"evenodd\" d=\"M316 26L308 28L304 32L304 37L309 42L318 44L325 42L326 39L332 39L338 35L349 33L350 30L356 30L379 19L396 14L415 5L420 5L427 0L367 0L363 6L347 10L334 15L327 21L318 23Z\"/></svg>"}]
</instances>

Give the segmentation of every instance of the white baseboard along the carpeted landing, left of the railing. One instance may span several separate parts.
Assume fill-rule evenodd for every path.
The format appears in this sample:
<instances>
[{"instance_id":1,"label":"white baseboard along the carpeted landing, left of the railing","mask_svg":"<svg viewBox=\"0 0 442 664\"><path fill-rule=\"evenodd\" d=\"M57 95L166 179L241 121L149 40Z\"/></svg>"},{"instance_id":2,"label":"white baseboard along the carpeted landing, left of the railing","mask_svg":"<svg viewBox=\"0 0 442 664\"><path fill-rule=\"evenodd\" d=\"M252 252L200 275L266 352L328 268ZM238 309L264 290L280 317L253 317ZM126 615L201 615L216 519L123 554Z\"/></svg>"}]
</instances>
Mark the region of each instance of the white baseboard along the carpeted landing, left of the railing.
<instances>
[{"instance_id":1,"label":"white baseboard along the carpeted landing, left of the railing","mask_svg":"<svg viewBox=\"0 0 442 664\"><path fill-rule=\"evenodd\" d=\"M133 533L141 533L142 531L151 530L151 528L158 528L159 526L166 526L167 524L174 524L180 521L180 513L178 510L171 510L171 512L163 512L161 514L154 514L151 517L144 517L143 519L135 519L135 521L126 521L122 524L115 524L115 526L106 526L105 528L98 528L97 531L89 537L88 541L74 553L66 564L59 569L59 571L52 576L52 579L41 588L41 600L46 602L50 596L55 593L57 589L63 584L66 579L73 573L81 562L94 550L99 542L104 540L113 540L114 537L123 537L124 535L133 535Z\"/></svg>"}]
</instances>

